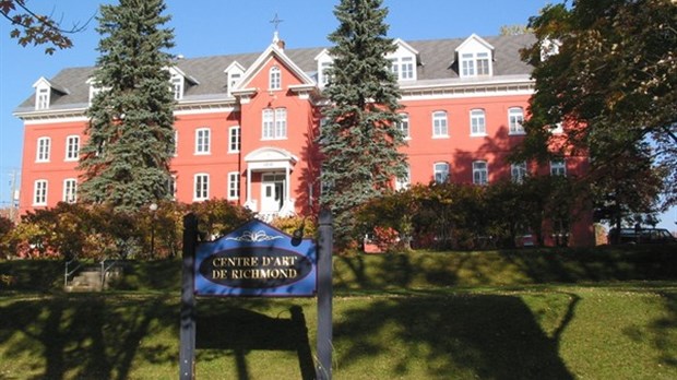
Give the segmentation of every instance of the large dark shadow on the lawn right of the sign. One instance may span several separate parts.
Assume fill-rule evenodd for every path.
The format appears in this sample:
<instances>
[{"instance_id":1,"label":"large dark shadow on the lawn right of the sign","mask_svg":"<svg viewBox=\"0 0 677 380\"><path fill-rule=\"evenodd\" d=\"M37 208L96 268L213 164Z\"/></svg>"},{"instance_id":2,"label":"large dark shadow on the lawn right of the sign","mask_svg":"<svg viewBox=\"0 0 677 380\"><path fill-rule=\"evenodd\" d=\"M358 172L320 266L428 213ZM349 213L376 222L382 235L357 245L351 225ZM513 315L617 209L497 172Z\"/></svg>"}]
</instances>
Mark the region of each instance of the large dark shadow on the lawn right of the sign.
<instances>
[{"instance_id":1,"label":"large dark shadow on the lawn right of the sign","mask_svg":"<svg viewBox=\"0 0 677 380\"><path fill-rule=\"evenodd\" d=\"M544 333L519 297L402 297L345 311L334 326L339 367L385 358L390 372L406 378L425 364L428 378L573 379L559 357L559 335ZM393 341L384 341L392 336ZM365 373L369 378L369 375Z\"/></svg>"}]
</instances>

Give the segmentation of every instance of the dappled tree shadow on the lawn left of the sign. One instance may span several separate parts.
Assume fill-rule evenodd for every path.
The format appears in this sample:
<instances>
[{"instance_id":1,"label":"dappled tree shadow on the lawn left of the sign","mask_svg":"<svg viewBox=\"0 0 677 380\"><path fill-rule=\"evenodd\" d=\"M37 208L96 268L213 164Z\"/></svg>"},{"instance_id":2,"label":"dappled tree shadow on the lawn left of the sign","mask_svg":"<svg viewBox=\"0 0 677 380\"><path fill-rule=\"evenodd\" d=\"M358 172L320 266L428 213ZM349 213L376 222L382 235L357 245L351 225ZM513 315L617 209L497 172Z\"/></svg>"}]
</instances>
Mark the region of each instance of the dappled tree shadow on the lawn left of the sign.
<instances>
[{"instance_id":1,"label":"dappled tree shadow on the lawn left of the sign","mask_svg":"<svg viewBox=\"0 0 677 380\"><path fill-rule=\"evenodd\" d=\"M157 299L98 295L19 300L0 308L0 344L9 345L5 360L26 354L43 358L32 363L44 372L24 373L25 379L127 379L138 356L150 363L176 360L164 343L140 347L142 340L176 323L171 309Z\"/></svg>"}]
</instances>

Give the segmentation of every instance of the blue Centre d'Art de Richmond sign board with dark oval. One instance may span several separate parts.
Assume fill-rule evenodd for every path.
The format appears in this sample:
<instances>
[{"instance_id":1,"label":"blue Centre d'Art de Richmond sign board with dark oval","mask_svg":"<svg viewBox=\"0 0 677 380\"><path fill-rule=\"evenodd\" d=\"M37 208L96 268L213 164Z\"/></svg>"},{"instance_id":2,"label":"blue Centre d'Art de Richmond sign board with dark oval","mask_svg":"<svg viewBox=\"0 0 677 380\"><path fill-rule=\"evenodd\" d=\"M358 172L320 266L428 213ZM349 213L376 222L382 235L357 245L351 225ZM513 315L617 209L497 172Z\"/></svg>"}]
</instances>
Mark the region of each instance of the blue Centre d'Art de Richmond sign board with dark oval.
<instances>
[{"instance_id":1,"label":"blue Centre d'Art de Richmond sign board with dark oval","mask_svg":"<svg viewBox=\"0 0 677 380\"><path fill-rule=\"evenodd\" d=\"M201 296L314 296L317 248L253 219L195 250L195 294Z\"/></svg>"}]
</instances>

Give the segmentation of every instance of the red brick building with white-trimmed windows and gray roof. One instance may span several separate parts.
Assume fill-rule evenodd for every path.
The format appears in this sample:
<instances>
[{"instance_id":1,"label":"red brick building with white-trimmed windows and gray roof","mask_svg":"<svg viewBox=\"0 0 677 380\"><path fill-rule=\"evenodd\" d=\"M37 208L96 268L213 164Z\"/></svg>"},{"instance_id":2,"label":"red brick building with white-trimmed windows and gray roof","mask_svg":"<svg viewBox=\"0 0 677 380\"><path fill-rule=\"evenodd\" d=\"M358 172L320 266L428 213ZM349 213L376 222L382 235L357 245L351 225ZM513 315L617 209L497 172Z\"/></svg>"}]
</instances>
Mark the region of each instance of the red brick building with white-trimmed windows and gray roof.
<instances>
[{"instance_id":1,"label":"red brick building with white-trimmed windows and gray roof","mask_svg":"<svg viewBox=\"0 0 677 380\"><path fill-rule=\"evenodd\" d=\"M400 128L411 183L451 180L486 185L527 174L577 175L585 157L549 166L510 164L523 136L534 92L519 50L532 35L404 41L388 58L402 92ZM168 70L175 94L176 153L168 186L181 202L227 199L262 217L307 214L320 193L322 88L328 49L286 49L277 35L260 54L177 59ZM100 91L94 68L70 68L34 83L14 115L24 121L20 212L76 202L85 110ZM555 133L558 131L556 130ZM573 236L592 237L591 221Z\"/></svg>"}]
</instances>

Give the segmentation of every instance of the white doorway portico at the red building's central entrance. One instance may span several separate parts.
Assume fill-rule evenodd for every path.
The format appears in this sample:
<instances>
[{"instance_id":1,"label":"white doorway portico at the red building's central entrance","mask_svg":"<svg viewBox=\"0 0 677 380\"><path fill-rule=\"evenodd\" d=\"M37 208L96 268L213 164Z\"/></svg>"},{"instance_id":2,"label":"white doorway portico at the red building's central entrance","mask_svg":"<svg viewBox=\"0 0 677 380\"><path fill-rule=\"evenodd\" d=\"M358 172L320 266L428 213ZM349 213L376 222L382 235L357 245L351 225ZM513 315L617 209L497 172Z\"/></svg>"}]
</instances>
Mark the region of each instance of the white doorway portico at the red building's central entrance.
<instances>
[{"instance_id":1,"label":"white doorway portico at the red building's central entrance","mask_svg":"<svg viewBox=\"0 0 677 380\"><path fill-rule=\"evenodd\" d=\"M258 213L263 219L293 215L295 209L290 192L290 175L297 162L296 156L280 147L265 146L247 154L245 206ZM260 191L254 191L254 186Z\"/></svg>"}]
</instances>

